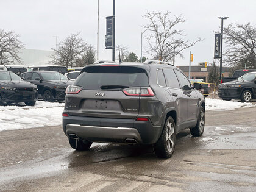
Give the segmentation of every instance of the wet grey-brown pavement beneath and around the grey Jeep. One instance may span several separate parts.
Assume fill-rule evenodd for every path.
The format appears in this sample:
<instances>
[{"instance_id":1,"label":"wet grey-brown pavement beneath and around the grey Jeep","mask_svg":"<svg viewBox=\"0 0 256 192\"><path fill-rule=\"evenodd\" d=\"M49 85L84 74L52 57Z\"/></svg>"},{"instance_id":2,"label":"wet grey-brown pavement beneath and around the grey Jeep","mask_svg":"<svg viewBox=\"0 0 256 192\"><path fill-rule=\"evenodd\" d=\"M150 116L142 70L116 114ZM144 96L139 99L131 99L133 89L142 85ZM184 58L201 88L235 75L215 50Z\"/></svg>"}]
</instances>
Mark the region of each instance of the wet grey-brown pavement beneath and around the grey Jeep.
<instances>
[{"instance_id":1,"label":"wet grey-brown pavement beneath and around the grey Jeep","mask_svg":"<svg viewBox=\"0 0 256 192\"><path fill-rule=\"evenodd\" d=\"M151 146L69 147L61 126L0 132L0 191L256 191L256 108L207 112L205 133Z\"/></svg>"}]
</instances>

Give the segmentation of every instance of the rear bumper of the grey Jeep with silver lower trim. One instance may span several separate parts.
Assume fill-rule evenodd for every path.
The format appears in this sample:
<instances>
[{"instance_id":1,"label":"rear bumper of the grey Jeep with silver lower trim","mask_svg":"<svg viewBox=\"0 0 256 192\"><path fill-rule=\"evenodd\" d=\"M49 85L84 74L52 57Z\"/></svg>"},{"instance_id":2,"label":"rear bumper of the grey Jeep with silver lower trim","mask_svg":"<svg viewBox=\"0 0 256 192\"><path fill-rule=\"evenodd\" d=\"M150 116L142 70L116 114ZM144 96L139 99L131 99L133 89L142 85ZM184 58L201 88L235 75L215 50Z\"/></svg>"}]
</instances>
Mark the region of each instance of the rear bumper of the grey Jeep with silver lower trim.
<instances>
[{"instance_id":1,"label":"rear bumper of the grey Jeep with silver lower trim","mask_svg":"<svg viewBox=\"0 0 256 192\"><path fill-rule=\"evenodd\" d=\"M63 131L68 137L74 134L89 141L126 143L129 138L140 144L153 144L160 137L162 127L152 126L151 121L69 115L63 117Z\"/></svg>"}]
</instances>

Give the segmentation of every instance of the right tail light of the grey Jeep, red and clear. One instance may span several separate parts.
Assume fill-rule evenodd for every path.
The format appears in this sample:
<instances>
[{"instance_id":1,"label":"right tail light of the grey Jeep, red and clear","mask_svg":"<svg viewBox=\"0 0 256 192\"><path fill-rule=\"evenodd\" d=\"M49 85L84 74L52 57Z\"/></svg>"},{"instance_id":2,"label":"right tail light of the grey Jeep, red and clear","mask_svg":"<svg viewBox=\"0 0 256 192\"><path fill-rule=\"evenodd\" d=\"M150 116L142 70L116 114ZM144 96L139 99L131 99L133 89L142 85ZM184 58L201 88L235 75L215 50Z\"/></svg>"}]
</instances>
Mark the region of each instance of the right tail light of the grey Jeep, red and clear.
<instances>
[{"instance_id":1,"label":"right tail light of the grey Jeep, red and clear","mask_svg":"<svg viewBox=\"0 0 256 192\"><path fill-rule=\"evenodd\" d=\"M123 93L126 94L127 96L152 97L155 95L150 87L126 88L123 90Z\"/></svg>"}]
</instances>

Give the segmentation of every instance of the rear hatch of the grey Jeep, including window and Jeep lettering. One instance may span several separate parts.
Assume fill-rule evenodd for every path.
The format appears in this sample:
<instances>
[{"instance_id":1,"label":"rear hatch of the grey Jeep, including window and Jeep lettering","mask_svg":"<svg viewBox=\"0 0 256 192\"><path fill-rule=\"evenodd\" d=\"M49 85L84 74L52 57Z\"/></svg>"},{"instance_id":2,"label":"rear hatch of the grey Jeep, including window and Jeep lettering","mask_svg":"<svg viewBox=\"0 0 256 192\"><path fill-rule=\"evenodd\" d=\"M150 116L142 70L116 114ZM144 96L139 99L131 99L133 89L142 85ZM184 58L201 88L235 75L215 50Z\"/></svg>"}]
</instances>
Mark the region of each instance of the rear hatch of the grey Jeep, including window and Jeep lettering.
<instances>
[{"instance_id":1,"label":"rear hatch of the grey Jeep, including window and Jeep lettering","mask_svg":"<svg viewBox=\"0 0 256 192\"><path fill-rule=\"evenodd\" d=\"M144 90L147 94L148 88L148 72L143 68L87 66L67 88L66 108L75 116L134 119L139 112L140 93Z\"/></svg>"}]
</instances>

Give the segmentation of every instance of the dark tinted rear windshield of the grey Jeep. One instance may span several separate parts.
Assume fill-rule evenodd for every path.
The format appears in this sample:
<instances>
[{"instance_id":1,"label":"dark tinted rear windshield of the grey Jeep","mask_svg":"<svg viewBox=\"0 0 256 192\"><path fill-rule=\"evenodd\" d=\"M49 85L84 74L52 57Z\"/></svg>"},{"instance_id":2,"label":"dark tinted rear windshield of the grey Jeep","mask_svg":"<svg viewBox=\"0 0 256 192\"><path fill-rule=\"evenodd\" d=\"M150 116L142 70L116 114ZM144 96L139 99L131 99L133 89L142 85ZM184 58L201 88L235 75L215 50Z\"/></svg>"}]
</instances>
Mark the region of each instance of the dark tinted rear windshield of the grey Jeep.
<instances>
[{"instance_id":1,"label":"dark tinted rear windshield of the grey Jeep","mask_svg":"<svg viewBox=\"0 0 256 192\"><path fill-rule=\"evenodd\" d=\"M147 87L148 75L142 68L132 66L90 66L74 82L87 90L100 90L104 85Z\"/></svg>"}]
</instances>

